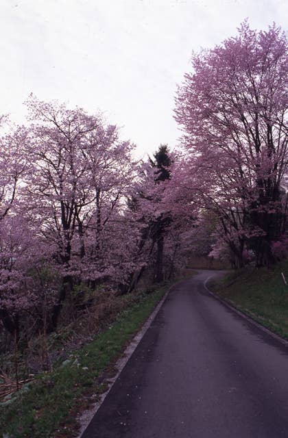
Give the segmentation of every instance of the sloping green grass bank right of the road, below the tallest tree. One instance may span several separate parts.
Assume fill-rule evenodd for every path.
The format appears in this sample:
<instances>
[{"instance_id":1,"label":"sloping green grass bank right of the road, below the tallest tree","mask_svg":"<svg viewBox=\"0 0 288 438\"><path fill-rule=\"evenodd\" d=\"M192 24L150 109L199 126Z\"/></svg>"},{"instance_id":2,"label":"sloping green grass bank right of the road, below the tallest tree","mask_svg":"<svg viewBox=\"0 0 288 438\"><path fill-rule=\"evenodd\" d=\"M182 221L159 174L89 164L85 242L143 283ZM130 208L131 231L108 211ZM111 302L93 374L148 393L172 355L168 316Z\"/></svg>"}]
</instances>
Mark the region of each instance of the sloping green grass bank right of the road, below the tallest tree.
<instances>
[{"instance_id":1,"label":"sloping green grass bank right of the road, below the tallest tree","mask_svg":"<svg viewBox=\"0 0 288 438\"><path fill-rule=\"evenodd\" d=\"M208 287L263 326L288 339L288 262L272 268L229 272Z\"/></svg>"}]
</instances>

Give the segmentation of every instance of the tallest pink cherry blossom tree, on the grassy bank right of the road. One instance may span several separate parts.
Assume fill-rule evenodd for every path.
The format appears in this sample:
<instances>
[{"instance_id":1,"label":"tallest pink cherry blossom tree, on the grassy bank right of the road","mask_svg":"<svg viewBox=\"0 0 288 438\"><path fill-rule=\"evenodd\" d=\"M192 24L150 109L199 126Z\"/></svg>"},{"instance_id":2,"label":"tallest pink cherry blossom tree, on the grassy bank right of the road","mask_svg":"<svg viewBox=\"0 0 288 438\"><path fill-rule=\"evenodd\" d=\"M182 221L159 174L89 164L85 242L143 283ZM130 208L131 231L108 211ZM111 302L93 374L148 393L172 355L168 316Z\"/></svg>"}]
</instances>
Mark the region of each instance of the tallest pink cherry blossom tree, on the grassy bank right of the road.
<instances>
[{"instance_id":1,"label":"tallest pink cherry blossom tree, on the grassy bank right of the road","mask_svg":"<svg viewBox=\"0 0 288 438\"><path fill-rule=\"evenodd\" d=\"M287 170L287 38L245 21L235 38L193 55L176 99L189 153L185 188L219 217L239 265L245 244L257 263L273 261L283 223ZM184 166L183 166L184 167Z\"/></svg>"}]
</instances>

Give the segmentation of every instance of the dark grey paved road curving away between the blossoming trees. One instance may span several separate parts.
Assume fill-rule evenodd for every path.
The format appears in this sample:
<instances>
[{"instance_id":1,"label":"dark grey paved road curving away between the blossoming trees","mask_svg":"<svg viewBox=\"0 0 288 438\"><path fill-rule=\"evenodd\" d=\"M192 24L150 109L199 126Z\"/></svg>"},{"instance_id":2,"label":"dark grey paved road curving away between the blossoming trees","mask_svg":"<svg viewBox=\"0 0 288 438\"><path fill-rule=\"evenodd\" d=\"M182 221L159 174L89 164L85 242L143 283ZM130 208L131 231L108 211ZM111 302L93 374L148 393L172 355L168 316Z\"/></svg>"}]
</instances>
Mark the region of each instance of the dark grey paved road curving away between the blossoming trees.
<instances>
[{"instance_id":1,"label":"dark grey paved road curving away between the blossoming trees","mask_svg":"<svg viewBox=\"0 0 288 438\"><path fill-rule=\"evenodd\" d=\"M288 437L288 348L210 296L172 289L83 438Z\"/></svg>"}]
</instances>

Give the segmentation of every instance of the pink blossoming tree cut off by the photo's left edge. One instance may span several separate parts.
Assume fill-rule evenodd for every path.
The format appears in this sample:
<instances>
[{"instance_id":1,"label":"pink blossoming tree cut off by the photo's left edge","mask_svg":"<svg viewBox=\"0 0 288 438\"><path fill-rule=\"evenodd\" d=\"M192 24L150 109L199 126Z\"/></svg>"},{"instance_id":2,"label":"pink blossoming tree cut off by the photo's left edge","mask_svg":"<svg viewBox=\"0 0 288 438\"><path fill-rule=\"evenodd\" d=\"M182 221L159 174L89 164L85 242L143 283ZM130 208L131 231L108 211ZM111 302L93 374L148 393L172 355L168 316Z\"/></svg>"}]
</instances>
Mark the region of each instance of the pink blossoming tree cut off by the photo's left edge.
<instances>
[{"instance_id":1,"label":"pink blossoming tree cut off by the photo's left edge","mask_svg":"<svg viewBox=\"0 0 288 438\"><path fill-rule=\"evenodd\" d=\"M28 132L5 125L0 138L0 319L19 336L19 318L31 305L27 270L36 254L32 233L21 214L21 186L29 170Z\"/></svg>"}]
</instances>

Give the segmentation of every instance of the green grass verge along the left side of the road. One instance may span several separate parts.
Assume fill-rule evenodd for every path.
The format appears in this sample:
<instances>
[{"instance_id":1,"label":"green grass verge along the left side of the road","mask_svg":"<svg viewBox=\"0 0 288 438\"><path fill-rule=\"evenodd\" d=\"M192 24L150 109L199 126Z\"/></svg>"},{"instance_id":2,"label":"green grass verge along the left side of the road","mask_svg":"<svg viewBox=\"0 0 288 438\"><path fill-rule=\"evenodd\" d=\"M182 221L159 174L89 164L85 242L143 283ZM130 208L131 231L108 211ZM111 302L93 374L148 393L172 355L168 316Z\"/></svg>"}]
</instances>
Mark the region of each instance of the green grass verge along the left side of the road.
<instances>
[{"instance_id":1,"label":"green grass verge along the left side of the road","mask_svg":"<svg viewBox=\"0 0 288 438\"><path fill-rule=\"evenodd\" d=\"M122 311L116 322L91 343L71 352L69 363L59 363L53 372L40 374L8 406L0 405L0 437L76 436L75 414L88 407L92 394L105 390L101 376L104 372L113 374L112 364L167 289L166 285L143 295L140 302Z\"/></svg>"}]
</instances>

